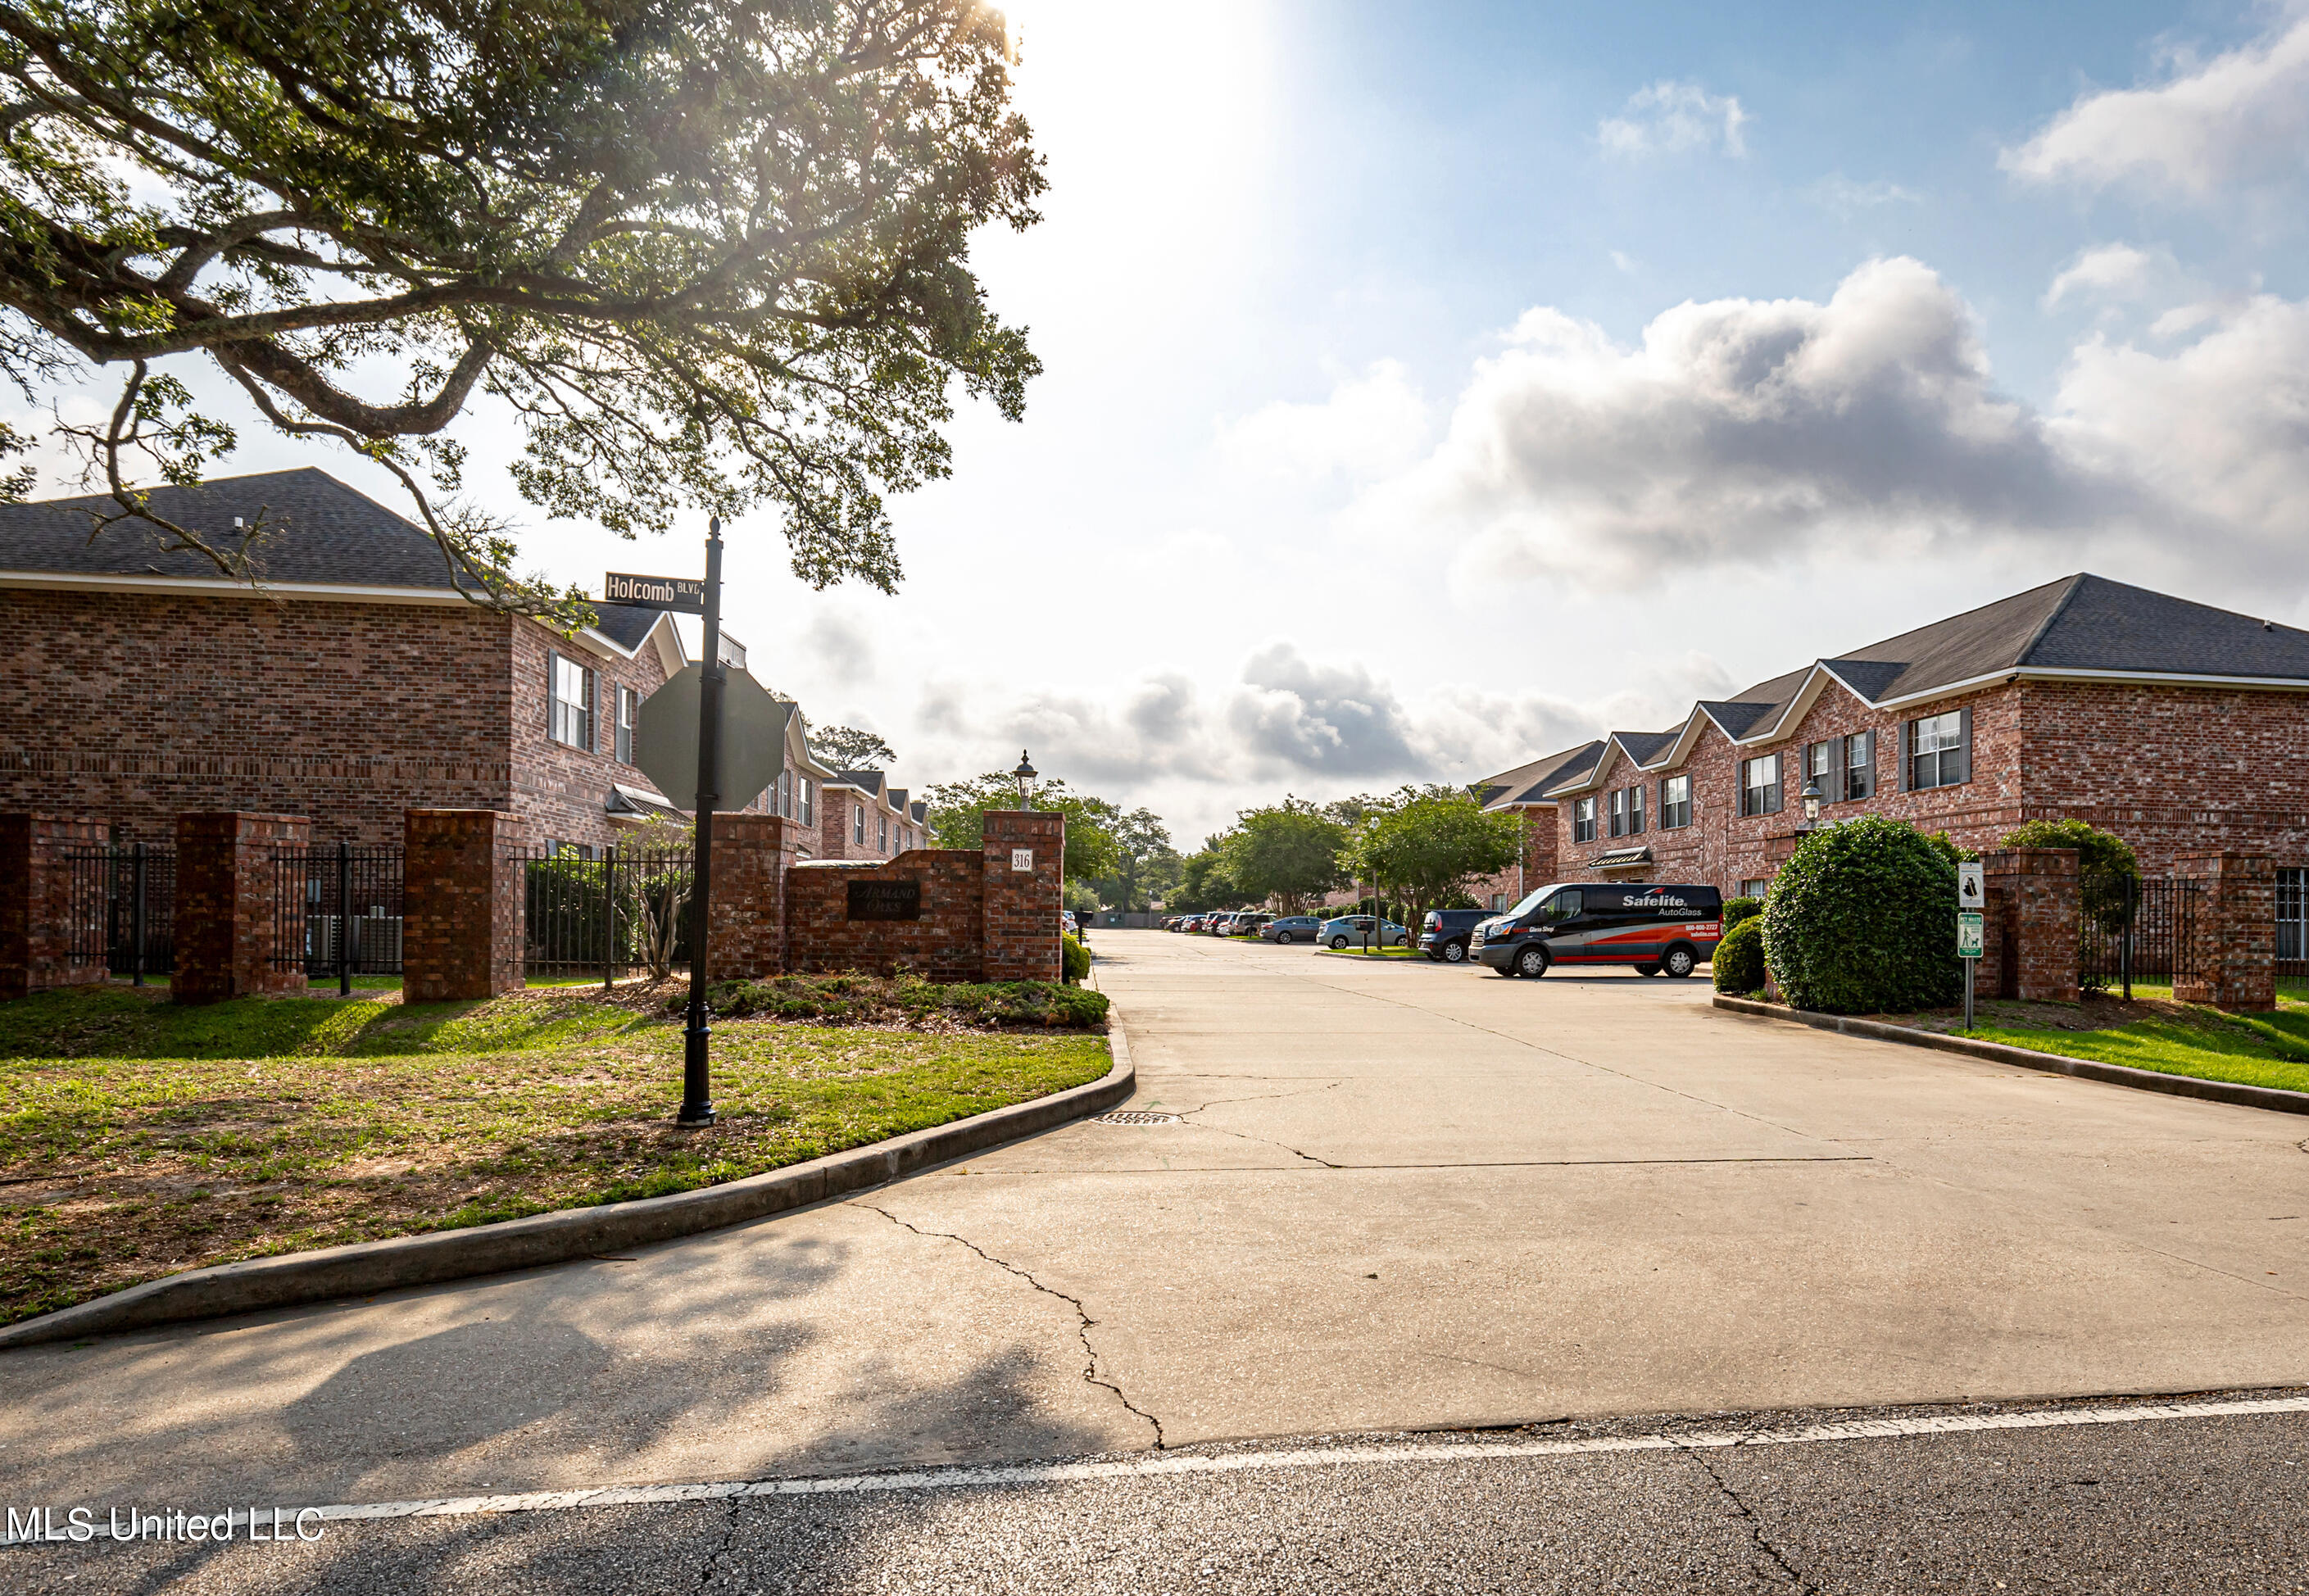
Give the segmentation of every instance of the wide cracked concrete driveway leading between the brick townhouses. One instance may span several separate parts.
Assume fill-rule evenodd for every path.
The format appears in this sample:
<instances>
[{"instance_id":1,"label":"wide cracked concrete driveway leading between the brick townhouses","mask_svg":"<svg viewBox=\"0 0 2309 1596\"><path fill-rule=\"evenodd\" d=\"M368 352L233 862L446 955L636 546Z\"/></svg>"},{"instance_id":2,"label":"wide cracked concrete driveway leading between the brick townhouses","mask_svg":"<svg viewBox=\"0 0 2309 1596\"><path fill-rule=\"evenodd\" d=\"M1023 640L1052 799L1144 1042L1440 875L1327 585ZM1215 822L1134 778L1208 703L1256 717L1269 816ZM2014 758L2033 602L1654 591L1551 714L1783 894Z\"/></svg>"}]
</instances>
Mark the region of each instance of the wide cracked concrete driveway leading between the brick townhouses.
<instances>
[{"instance_id":1,"label":"wide cracked concrete driveway leading between the brick townhouses","mask_svg":"<svg viewBox=\"0 0 2309 1596\"><path fill-rule=\"evenodd\" d=\"M2309 1120L1702 982L1101 931L1157 1125L633 1259L0 1356L14 1499L369 1501L2309 1381Z\"/></svg>"}]
</instances>

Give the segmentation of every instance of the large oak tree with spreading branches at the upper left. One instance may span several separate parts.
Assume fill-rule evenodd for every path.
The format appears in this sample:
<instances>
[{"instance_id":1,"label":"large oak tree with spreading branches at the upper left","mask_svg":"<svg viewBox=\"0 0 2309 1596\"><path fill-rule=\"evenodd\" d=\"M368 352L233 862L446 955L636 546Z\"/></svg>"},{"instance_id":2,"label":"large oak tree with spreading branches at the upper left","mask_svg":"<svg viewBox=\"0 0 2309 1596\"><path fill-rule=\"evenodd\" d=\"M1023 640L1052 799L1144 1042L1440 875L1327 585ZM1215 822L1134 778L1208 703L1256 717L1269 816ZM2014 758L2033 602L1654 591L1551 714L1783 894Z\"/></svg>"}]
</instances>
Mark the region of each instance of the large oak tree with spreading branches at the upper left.
<instances>
[{"instance_id":1,"label":"large oak tree with spreading branches at the upper left","mask_svg":"<svg viewBox=\"0 0 2309 1596\"><path fill-rule=\"evenodd\" d=\"M977 0L0 0L0 370L115 383L55 427L92 536L233 575L263 517L143 492L236 446L201 370L397 476L499 607L584 619L457 497L483 395L550 515L769 506L797 575L889 591L884 494L947 473L954 379L1018 418L1037 372L967 266L1037 219L1009 90Z\"/></svg>"}]
</instances>

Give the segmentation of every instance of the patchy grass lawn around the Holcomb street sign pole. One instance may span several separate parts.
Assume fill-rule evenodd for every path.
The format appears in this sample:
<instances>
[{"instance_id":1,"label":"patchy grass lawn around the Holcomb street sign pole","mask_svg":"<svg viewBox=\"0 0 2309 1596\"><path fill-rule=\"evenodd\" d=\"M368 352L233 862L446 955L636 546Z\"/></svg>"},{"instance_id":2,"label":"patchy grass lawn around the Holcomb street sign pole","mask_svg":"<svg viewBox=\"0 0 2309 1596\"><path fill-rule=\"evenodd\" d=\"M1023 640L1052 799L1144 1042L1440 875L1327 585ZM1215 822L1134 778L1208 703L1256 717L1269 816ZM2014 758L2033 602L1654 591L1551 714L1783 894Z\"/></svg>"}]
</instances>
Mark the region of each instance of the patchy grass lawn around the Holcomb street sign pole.
<instances>
[{"instance_id":1,"label":"patchy grass lawn around the Holcomb street sign pole","mask_svg":"<svg viewBox=\"0 0 2309 1596\"><path fill-rule=\"evenodd\" d=\"M713 1185L1111 1065L1081 1030L718 1021L723 1120L677 1132L663 1012L159 998L0 1005L0 1323L203 1263Z\"/></svg>"}]
</instances>

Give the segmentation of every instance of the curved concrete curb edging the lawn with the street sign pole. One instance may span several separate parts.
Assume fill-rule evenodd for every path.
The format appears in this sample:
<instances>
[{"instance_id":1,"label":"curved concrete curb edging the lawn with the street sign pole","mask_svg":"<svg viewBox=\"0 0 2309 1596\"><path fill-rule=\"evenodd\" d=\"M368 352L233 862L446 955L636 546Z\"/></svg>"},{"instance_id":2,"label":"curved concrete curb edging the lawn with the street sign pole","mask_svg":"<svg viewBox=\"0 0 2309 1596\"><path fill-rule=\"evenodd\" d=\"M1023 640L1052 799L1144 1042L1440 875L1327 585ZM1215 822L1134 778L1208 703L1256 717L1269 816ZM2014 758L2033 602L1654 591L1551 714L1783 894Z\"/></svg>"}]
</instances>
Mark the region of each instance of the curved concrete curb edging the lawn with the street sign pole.
<instances>
[{"instance_id":1,"label":"curved concrete curb edging the lawn with the street sign pole","mask_svg":"<svg viewBox=\"0 0 2309 1596\"><path fill-rule=\"evenodd\" d=\"M476 1224L466 1231L395 1236L349 1247L289 1252L277 1259L192 1268L0 1328L0 1351L566 1263L598 1252L718 1231L746 1220L822 1203L829 1196L864 1192L931 1164L984 1153L1004 1141L1101 1113L1127 1099L1136 1086L1129 1039L1120 1026L1108 1026L1106 1039L1113 1046L1115 1065L1097 1081L974 1113L951 1125L933 1125L868 1148L831 1153L808 1164L771 1169L697 1192L644 1196L600 1208L561 1208L503 1224Z\"/></svg>"}]
</instances>

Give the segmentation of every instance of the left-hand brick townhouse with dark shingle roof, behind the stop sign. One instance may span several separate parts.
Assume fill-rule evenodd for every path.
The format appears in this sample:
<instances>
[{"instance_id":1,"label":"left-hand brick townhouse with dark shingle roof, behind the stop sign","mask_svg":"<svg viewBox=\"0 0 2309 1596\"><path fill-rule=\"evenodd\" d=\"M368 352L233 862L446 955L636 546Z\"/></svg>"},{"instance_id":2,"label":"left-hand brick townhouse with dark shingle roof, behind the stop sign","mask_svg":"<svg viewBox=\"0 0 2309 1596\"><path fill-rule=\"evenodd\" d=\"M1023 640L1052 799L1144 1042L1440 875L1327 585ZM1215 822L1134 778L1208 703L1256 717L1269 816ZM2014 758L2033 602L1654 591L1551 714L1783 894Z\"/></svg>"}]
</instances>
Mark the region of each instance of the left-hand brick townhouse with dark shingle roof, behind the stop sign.
<instances>
[{"instance_id":1,"label":"left-hand brick townhouse with dark shingle roof, behind the stop sign","mask_svg":"<svg viewBox=\"0 0 2309 1596\"><path fill-rule=\"evenodd\" d=\"M88 815L120 841L169 838L185 811L275 811L383 843L404 808L499 808L589 855L681 813L633 765L640 702L688 663L667 612L603 607L563 637L483 610L423 531L316 469L152 492L219 540L263 517L261 589L129 522L90 540L102 504L0 506L0 811ZM831 841L857 797L919 838L919 806L873 778L820 765L794 716L750 808ZM827 852L868 852L843 836Z\"/></svg>"}]
</instances>

